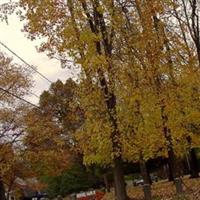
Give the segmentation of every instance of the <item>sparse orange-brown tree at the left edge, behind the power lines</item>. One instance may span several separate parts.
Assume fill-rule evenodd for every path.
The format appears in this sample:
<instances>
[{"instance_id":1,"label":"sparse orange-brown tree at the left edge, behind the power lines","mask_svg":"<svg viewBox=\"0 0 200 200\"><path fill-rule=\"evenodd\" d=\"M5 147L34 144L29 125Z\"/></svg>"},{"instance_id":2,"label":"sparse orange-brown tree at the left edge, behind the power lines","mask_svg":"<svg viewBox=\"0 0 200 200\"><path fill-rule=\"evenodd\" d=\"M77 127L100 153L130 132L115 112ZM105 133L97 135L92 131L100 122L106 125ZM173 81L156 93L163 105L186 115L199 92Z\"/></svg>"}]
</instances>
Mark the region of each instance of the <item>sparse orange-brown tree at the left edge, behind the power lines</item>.
<instances>
[{"instance_id":1,"label":"sparse orange-brown tree at the left edge, behind the power lines","mask_svg":"<svg viewBox=\"0 0 200 200\"><path fill-rule=\"evenodd\" d=\"M31 86L30 74L12 59L0 53L0 177L1 199L5 199L5 175L13 167L16 149L23 135L21 117L26 106L14 97L27 94ZM12 95L11 95L12 94Z\"/></svg>"}]
</instances>

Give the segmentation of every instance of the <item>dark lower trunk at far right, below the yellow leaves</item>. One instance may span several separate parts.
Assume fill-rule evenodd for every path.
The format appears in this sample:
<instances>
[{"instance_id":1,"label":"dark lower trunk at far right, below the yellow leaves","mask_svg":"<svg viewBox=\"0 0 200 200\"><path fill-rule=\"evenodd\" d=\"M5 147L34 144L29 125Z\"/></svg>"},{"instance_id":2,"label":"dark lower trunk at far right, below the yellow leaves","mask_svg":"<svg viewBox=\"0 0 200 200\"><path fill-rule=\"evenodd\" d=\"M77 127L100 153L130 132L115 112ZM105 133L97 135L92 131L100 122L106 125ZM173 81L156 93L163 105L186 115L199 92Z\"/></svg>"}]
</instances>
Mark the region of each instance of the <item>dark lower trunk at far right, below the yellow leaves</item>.
<instances>
[{"instance_id":1,"label":"dark lower trunk at far right, below the yellow leaves","mask_svg":"<svg viewBox=\"0 0 200 200\"><path fill-rule=\"evenodd\" d=\"M192 148L190 150L190 174L191 178L198 178L199 177L199 169L198 169L198 160L196 157L195 149Z\"/></svg>"}]
</instances>

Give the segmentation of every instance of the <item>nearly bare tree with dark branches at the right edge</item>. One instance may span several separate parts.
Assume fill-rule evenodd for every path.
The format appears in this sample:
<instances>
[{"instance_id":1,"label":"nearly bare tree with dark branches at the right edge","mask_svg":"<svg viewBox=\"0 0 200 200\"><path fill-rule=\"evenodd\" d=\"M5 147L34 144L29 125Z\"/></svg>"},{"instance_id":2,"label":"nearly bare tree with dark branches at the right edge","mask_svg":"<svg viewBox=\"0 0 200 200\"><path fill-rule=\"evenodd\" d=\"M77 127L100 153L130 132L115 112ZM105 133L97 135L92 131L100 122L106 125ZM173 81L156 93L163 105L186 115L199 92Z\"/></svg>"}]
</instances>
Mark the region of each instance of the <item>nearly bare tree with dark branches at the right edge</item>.
<instances>
[{"instance_id":1,"label":"nearly bare tree with dark branches at the right edge","mask_svg":"<svg viewBox=\"0 0 200 200\"><path fill-rule=\"evenodd\" d=\"M170 29L173 29L177 36L185 43L187 49L187 57L191 60L196 57L198 65L200 61L199 56L199 44L200 44L200 32L199 32L199 10L200 4L198 1L171 1L173 9L170 11L171 23ZM198 177L197 158L195 155L195 149L191 145L191 138L187 138L188 149L190 152L190 165L191 165L191 177Z\"/></svg>"}]
</instances>

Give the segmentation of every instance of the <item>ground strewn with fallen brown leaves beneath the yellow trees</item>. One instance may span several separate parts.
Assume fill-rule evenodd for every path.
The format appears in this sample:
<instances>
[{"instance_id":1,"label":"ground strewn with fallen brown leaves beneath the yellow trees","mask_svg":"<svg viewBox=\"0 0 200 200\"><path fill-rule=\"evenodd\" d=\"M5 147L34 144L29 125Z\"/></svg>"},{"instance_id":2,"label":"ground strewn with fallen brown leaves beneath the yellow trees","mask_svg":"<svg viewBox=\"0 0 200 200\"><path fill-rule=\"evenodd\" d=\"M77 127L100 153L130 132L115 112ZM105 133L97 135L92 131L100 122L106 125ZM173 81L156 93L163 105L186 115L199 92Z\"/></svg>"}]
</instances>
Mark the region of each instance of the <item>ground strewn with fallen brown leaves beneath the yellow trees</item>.
<instances>
[{"instance_id":1,"label":"ground strewn with fallen brown leaves beneath the yellow trees","mask_svg":"<svg viewBox=\"0 0 200 200\"><path fill-rule=\"evenodd\" d=\"M200 178L182 178L184 193L177 196L173 182L162 180L152 184L152 200L200 200ZM128 196L131 200L143 200L142 186L127 186ZM103 200L114 200L114 191L106 193Z\"/></svg>"}]
</instances>

